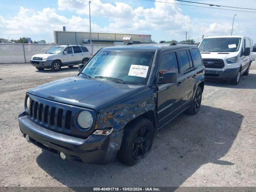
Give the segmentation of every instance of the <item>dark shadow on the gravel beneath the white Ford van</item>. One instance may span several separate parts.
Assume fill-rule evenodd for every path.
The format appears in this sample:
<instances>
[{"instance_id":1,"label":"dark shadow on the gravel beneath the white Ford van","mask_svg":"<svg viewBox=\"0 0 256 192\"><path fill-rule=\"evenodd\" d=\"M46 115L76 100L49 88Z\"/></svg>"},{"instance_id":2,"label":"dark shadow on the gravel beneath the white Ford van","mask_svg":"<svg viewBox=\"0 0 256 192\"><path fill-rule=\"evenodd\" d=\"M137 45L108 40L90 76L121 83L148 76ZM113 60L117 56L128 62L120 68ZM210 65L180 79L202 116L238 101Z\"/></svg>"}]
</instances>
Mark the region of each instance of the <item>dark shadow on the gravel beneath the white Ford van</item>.
<instances>
[{"instance_id":1,"label":"dark shadow on the gravel beneath the white Ford van","mask_svg":"<svg viewBox=\"0 0 256 192\"><path fill-rule=\"evenodd\" d=\"M215 79L206 79L205 85L216 86L216 87L226 87L234 89L256 89L256 74L248 74L248 76L241 76L240 82L238 85L230 84L229 80L215 80Z\"/></svg>"}]
</instances>

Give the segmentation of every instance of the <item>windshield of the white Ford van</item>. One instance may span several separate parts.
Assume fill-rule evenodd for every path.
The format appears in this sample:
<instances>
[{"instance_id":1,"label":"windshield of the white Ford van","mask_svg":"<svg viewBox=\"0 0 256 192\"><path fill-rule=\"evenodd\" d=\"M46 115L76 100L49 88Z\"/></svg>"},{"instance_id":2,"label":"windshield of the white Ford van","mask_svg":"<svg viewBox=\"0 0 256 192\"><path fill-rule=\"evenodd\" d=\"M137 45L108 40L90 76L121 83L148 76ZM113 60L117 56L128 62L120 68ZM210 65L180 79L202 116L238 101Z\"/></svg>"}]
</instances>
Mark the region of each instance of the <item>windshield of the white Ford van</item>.
<instances>
[{"instance_id":1,"label":"windshield of the white Ford van","mask_svg":"<svg viewBox=\"0 0 256 192\"><path fill-rule=\"evenodd\" d=\"M236 52L240 41L241 38L207 38L202 41L199 49L209 52Z\"/></svg>"}]
</instances>

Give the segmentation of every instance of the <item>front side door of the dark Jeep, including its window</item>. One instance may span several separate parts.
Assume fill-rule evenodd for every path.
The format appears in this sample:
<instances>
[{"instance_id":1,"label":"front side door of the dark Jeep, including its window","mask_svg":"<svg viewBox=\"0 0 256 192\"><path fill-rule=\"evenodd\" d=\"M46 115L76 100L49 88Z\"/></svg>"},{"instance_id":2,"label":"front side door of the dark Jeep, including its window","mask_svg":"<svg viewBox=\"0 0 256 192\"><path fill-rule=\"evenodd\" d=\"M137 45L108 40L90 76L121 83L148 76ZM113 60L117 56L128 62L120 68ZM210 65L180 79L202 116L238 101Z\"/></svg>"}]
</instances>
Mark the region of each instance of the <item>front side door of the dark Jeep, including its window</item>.
<instances>
[{"instance_id":1,"label":"front side door of the dark Jeep, including its window","mask_svg":"<svg viewBox=\"0 0 256 192\"><path fill-rule=\"evenodd\" d=\"M164 52L160 58L158 77L166 71L176 71L178 80L176 83L158 84L157 115L158 126L164 125L182 111L184 103L183 78L177 60L176 52Z\"/></svg>"}]
</instances>

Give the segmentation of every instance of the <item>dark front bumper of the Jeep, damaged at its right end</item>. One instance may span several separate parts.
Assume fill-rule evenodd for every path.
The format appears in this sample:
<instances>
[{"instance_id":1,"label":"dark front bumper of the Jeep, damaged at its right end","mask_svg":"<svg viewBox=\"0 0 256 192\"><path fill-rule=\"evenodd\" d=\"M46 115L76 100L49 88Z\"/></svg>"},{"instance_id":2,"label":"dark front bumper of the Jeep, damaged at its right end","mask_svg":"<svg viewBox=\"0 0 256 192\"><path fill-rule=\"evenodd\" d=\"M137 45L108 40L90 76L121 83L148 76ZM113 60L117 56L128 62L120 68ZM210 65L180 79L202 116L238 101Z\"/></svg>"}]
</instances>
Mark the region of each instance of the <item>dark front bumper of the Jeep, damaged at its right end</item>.
<instances>
[{"instance_id":1,"label":"dark front bumper of the Jeep, damaged at its right end","mask_svg":"<svg viewBox=\"0 0 256 192\"><path fill-rule=\"evenodd\" d=\"M66 159L93 164L108 164L116 158L122 142L123 130L108 136L91 134L86 139L68 136L43 128L32 122L25 113L19 115L20 130L29 142L59 155L63 152Z\"/></svg>"}]
</instances>

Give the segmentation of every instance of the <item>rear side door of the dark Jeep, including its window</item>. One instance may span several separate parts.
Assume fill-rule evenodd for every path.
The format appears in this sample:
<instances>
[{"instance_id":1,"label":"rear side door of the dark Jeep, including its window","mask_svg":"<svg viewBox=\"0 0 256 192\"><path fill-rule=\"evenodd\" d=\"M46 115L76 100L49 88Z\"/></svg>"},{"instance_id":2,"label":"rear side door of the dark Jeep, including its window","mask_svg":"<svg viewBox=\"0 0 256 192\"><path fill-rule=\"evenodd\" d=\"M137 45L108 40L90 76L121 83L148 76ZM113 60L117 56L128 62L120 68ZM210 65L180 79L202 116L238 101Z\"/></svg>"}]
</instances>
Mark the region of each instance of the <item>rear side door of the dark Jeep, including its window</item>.
<instances>
[{"instance_id":1,"label":"rear side door of the dark Jeep, including its window","mask_svg":"<svg viewBox=\"0 0 256 192\"><path fill-rule=\"evenodd\" d=\"M194 62L192 60L192 56L189 48L179 50L178 56L180 60L180 68L184 78L183 108L186 108L190 104L190 101L193 97L197 74L195 73Z\"/></svg>"}]
</instances>

